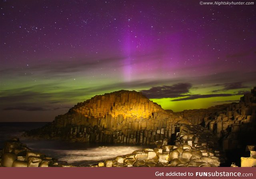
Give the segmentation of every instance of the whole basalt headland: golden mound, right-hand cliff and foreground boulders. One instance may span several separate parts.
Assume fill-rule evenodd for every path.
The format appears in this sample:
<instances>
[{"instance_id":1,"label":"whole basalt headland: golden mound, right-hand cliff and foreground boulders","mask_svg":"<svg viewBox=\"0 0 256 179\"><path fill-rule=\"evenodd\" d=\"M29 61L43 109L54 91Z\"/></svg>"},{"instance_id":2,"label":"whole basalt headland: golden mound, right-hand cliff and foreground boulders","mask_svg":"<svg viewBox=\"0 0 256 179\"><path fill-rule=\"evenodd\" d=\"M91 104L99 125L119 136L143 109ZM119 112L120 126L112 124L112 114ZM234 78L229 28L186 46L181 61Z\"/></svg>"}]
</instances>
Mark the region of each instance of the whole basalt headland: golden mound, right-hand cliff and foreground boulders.
<instances>
[{"instance_id":1,"label":"whole basalt headland: golden mound, right-hand cliff and foreground boulders","mask_svg":"<svg viewBox=\"0 0 256 179\"><path fill-rule=\"evenodd\" d=\"M256 87L238 103L176 113L162 109L136 91L96 95L26 135L77 142L156 145L93 167L218 167L230 166L232 162L256 165L255 131ZM6 149L2 161L9 155L5 153ZM7 153L17 155L10 150ZM13 160L17 160L15 156Z\"/></svg>"}]
</instances>

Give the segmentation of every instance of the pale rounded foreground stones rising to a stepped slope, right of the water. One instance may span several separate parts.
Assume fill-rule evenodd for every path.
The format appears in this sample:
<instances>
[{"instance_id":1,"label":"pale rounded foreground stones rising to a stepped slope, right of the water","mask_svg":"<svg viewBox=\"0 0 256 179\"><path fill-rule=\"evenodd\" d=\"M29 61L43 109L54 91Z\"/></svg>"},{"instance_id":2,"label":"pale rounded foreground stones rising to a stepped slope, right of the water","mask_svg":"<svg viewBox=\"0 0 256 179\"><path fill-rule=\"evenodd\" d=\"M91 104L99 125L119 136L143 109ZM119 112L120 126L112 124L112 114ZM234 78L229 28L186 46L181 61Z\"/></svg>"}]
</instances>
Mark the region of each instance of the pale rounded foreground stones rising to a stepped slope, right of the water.
<instances>
[{"instance_id":1,"label":"pale rounded foreground stones rising to a stepped slope, right of the water","mask_svg":"<svg viewBox=\"0 0 256 179\"><path fill-rule=\"evenodd\" d=\"M199 125L182 124L174 145L162 141L159 148L146 148L107 159L92 167L218 167L223 162L218 137Z\"/></svg>"}]
</instances>

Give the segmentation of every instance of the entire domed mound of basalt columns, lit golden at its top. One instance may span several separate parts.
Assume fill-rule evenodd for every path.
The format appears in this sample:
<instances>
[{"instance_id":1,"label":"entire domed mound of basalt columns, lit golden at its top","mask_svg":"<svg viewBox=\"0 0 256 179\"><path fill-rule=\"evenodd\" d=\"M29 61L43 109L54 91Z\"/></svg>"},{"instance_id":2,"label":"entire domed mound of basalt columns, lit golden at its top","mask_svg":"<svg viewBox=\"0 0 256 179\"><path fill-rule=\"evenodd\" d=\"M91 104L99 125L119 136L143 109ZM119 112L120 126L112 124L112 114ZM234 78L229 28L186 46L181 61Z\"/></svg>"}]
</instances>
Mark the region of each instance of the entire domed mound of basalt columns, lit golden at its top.
<instances>
[{"instance_id":1,"label":"entire domed mound of basalt columns, lit golden at its top","mask_svg":"<svg viewBox=\"0 0 256 179\"><path fill-rule=\"evenodd\" d=\"M189 122L139 92L121 90L78 103L51 125L28 134L80 142L149 144L170 138L181 123Z\"/></svg>"}]
</instances>

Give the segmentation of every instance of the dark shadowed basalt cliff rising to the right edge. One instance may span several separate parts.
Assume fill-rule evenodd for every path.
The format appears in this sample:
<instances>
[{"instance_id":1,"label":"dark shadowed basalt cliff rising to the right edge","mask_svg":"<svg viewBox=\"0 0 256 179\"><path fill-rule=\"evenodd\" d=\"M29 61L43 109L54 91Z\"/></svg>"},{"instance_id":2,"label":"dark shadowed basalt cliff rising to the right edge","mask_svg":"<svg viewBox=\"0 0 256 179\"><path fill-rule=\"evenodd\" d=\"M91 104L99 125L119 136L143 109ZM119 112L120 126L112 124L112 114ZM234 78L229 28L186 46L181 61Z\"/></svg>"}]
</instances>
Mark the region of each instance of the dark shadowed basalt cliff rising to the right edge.
<instances>
[{"instance_id":1,"label":"dark shadowed basalt cliff rising to the right edge","mask_svg":"<svg viewBox=\"0 0 256 179\"><path fill-rule=\"evenodd\" d=\"M256 87L239 103L216 105L208 109L184 110L181 115L195 125L203 125L220 137L224 150L244 149L256 143Z\"/></svg>"}]
</instances>

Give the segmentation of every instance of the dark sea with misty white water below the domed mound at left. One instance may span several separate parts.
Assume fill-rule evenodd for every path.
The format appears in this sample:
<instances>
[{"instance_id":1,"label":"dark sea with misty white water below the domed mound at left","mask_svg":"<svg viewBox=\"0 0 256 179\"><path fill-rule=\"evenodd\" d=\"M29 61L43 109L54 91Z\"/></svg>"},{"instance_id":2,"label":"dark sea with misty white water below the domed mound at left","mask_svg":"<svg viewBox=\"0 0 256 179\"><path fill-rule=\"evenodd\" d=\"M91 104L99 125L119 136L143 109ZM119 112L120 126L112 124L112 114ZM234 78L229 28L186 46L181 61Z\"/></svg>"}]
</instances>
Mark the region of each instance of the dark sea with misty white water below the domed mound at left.
<instances>
[{"instance_id":1,"label":"dark sea with misty white water below the domed mound at left","mask_svg":"<svg viewBox=\"0 0 256 179\"><path fill-rule=\"evenodd\" d=\"M59 161L67 161L69 164L77 167L88 167L105 159L125 155L148 147L125 144L76 143L24 137L25 131L38 129L46 124L46 122L0 123L0 149L4 147L4 141L18 137L20 142L25 143L32 151L44 153L47 157L52 157Z\"/></svg>"}]
</instances>

